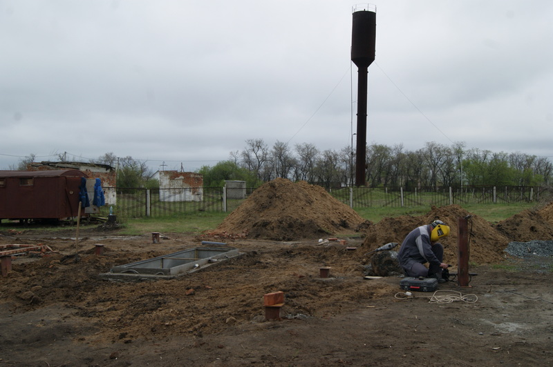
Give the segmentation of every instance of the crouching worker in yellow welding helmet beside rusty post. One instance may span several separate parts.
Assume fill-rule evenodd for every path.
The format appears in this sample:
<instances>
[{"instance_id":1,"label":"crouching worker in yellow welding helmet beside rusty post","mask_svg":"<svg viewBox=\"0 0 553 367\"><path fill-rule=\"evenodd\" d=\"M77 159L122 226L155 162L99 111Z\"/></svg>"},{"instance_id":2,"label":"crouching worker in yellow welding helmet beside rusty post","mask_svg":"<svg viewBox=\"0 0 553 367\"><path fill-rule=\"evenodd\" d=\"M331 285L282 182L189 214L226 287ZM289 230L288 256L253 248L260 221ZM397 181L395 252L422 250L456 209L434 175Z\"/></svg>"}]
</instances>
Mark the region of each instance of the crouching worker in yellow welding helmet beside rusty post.
<instances>
[{"instance_id":1,"label":"crouching worker in yellow welding helmet beside rusty post","mask_svg":"<svg viewBox=\"0 0 553 367\"><path fill-rule=\"evenodd\" d=\"M444 264L444 247L438 239L449 235L449 226L443 221L435 220L431 224L412 230L403 240L397 260L408 277L435 277L444 283L442 271ZM423 264L429 263L427 268Z\"/></svg>"}]
</instances>

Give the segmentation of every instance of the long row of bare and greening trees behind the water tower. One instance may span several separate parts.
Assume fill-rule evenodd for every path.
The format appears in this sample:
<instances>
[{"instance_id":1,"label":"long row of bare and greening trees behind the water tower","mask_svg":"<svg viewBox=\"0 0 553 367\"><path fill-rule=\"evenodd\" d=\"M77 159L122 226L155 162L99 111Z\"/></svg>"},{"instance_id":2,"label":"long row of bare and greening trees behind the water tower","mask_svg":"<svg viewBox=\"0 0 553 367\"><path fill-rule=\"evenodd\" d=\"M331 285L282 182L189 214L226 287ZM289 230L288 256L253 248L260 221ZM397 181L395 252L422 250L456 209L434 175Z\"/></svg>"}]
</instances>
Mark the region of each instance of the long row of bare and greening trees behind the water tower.
<instances>
[{"instance_id":1,"label":"long row of bare and greening trees behind the water tower","mask_svg":"<svg viewBox=\"0 0 553 367\"><path fill-rule=\"evenodd\" d=\"M294 148L281 141L270 148L263 139L245 143L243 150L230 153L230 161L261 182L283 177L330 188L355 181L351 147L321 151L311 143ZM465 143L445 146L432 141L415 151L402 144L372 144L366 150L366 184L373 187L539 186L551 183L552 172L546 157L465 149Z\"/></svg>"}]
</instances>

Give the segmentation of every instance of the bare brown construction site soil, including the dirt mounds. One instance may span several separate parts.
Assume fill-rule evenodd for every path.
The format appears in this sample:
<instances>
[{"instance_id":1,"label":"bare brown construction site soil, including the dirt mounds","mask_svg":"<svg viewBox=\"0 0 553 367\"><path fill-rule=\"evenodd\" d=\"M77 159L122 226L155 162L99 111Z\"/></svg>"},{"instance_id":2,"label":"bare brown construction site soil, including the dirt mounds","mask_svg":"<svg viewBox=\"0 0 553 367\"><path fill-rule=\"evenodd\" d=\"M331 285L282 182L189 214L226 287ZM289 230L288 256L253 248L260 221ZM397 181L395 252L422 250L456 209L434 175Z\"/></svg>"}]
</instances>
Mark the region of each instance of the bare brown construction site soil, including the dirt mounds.
<instances>
[{"instance_id":1,"label":"bare brown construction site soil, including the dirt mounds","mask_svg":"<svg viewBox=\"0 0 553 367\"><path fill-rule=\"evenodd\" d=\"M452 205L373 224L317 186L277 179L216 230L162 233L158 243L117 229L81 230L76 241L75 228L2 225L0 245L53 252L13 257L0 278L0 366L550 366L553 257L514 258L505 248L553 239L553 204L497 224L472 215L468 287L452 279L408 296L401 277L364 277L367 252L433 219L451 226L442 244L455 272L467 215ZM241 255L174 279L100 277L222 246L202 241ZM285 295L281 319L267 321L263 296L276 291Z\"/></svg>"}]
</instances>

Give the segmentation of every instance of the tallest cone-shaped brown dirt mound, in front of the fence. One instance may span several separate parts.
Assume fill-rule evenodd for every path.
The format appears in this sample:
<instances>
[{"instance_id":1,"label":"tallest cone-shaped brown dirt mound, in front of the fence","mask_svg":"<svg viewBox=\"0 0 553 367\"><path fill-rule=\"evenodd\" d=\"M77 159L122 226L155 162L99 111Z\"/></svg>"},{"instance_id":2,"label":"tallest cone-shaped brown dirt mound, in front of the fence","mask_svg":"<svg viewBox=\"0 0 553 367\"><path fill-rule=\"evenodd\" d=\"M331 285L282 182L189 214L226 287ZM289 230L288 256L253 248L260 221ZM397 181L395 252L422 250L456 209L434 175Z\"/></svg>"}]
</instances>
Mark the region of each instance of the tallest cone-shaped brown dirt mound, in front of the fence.
<instances>
[{"instance_id":1,"label":"tallest cone-shaped brown dirt mound, in front of the fence","mask_svg":"<svg viewBox=\"0 0 553 367\"><path fill-rule=\"evenodd\" d=\"M359 231L370 225L324 188L279 178L255 190L209 235L291 241Z\"/></svg>"}]
</instances>

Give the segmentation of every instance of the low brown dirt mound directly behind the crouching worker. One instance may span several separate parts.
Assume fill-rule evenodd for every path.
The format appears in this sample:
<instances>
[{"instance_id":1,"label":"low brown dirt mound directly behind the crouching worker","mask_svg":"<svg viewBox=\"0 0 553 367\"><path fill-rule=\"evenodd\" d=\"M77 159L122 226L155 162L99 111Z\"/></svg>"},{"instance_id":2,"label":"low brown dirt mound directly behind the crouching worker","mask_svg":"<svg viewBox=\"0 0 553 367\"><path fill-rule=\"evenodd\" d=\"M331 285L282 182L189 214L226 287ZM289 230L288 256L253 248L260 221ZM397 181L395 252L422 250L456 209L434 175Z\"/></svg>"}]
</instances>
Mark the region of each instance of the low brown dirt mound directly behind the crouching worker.
<instances>
[{"instance_id":1,"label":"low brown dirt mound directly behind the crouching worker","mask_svg":"<svg viewBox=\"0 0 553 367\"><path fill-rule=\"evenodd\" d=\"M418 217L404 215L395 218L384 218L374 226L366 229L364 247L368 250L374 250L388 242L401 244L411 230L423 224L429 224L435 219L440 219L451 227L449 236L440 241L444 245L444 261L448 264L456 265L458 261L458 219L467 217L467 215L470 215L470 213L462 207L450 205L440 208L432 207L426 215ZM496 230L489 221L478 217L478 215L470 217L470 261L474 261L477 264L490 264L505 259L504 250L509 241L513 240Z\"/></svg>"}]
</instances>

